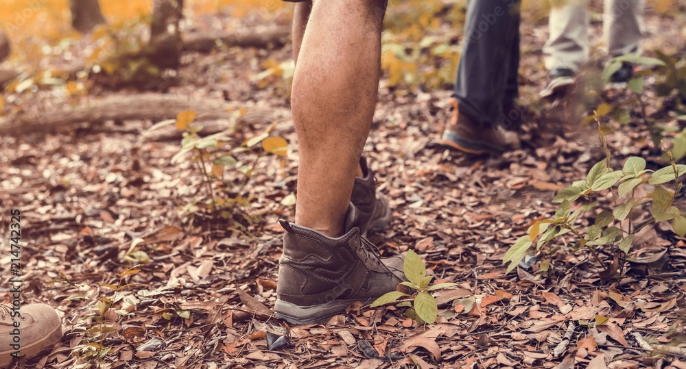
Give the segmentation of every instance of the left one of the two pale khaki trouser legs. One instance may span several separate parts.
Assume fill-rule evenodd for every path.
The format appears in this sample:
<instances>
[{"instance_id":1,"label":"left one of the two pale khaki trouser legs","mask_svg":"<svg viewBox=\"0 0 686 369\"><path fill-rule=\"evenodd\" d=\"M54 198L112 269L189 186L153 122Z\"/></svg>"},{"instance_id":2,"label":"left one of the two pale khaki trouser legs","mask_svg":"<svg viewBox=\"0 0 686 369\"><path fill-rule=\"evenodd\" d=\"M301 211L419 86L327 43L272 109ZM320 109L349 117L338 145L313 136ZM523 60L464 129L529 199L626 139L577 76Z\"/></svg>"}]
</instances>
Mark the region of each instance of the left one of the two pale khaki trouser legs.
<instances>
[{"instance_id":1,"label":"left one of the two pale khaki trouser legs","mask_svg":"<svg viewBox=\"0 0 686 369\"><path fill-rule=\"evenodd\" d=\"M589 12L587 0L552 1L550 36L543 46L545 68L568 68L578 72L589 58Z\"/></svg>"}]
</instances>

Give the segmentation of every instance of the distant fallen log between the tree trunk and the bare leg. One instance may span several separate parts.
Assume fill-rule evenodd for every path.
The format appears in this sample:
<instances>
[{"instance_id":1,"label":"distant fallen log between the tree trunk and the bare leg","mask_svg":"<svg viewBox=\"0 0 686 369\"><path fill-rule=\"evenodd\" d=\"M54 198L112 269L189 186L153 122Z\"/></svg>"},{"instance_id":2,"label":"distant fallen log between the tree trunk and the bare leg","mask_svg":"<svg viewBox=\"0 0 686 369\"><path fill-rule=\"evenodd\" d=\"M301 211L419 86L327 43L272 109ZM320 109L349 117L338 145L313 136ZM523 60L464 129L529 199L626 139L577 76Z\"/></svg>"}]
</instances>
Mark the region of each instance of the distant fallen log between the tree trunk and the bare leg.
<instances>
[{"instance_id":1,"label":"distant fallen log between the tree trunk and the bare leg","mask_svg":"<svg viewBox=\"0 0 686 369\"><path fill-rule=\"evenodd\" d=\"M183 37L183 50L209 53L217 46L269 49L285 45L290 34L290 27L276 27L261 31L250 29L213 35L187 34Z\"/></svg>"}]
</instances>

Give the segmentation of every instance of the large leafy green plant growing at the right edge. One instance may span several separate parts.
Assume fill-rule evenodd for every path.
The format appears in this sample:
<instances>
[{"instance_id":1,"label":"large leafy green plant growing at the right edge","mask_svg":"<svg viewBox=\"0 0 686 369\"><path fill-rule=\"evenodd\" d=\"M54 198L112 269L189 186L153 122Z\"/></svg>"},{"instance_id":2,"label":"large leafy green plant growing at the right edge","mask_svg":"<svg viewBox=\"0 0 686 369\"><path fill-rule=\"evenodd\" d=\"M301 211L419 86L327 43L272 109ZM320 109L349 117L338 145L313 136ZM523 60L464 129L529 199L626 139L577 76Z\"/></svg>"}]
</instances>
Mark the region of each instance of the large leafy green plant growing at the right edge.
<instances>
[{"instance_id":1,"label":"large leafy green plant growing at the right edge","mask_svg":"<svg viewBox=\"0 0 686 369\"><path fill-rule=\"evenodd\" d=\"M598 116L595 116L598 122ZM611 155L607 148L605 136L598 122L598 133L604 146L606 157L589 170L586 179L576 181L571 186L563 188L553 199L560 203L553 218L534 222L528 228L527 234L519 238L505 253L503 264L510 263L508 272L519 265L519 262L534 248L536 253L546 251L552 254L559 249L543 249L551 240L567 233L573 234L576 243L571 247L571 253L581 249L591 252L595 260L604 266L599 254L607 255L609 263L606 265L602 277L610 279L622 266L621 262L629 253L634 237L657 222L670 221L674 232L679 236L686 234L686 218L681 210L672 206L675 196L681 190L678 177L686 173L686 165L676 164L672 153L667 152L671 165L659 170L646 169L646 160L642 157L629 157L622 170L611 167ZM674 190L660 186L674 181ZM639 196L637 188L646 184L654 186L652 192L646 196ZM600 199L609 195L612 205L604 206ZM583 205L572 211L571 205L575 201L585 200ZM642 224L635 224L632 216L637 208L651 203L650 219ZM582 226L585 214L591 212L595 222L589 227ZM541 262L541 271L547 272L550 260Z\"/></svg>"}]
</instances>

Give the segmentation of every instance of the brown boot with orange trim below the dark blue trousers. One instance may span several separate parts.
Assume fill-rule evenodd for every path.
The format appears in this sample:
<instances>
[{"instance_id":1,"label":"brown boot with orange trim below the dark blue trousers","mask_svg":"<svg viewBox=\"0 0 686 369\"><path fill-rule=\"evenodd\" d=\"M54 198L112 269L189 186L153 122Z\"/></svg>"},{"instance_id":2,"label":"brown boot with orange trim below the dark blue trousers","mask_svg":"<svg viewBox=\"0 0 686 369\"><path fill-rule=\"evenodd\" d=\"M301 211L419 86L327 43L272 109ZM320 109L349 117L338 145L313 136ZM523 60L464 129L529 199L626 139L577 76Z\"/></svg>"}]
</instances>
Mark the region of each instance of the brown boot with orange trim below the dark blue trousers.
<instances>
[{"instance_id":1,"label":"brown boot with orange trim below the dark blue trousers","mask_svg":"<svg viewBox=\"0 0 686 369\"><path fill-rule=\"evenodd\" d=\"M450 105L453 116L443 131L440 144L471 154L502 153L519 147L519 138L514 133L500 125L480 125L460 114L455 98L450 99Z\"/></svg>"}]
</instances>

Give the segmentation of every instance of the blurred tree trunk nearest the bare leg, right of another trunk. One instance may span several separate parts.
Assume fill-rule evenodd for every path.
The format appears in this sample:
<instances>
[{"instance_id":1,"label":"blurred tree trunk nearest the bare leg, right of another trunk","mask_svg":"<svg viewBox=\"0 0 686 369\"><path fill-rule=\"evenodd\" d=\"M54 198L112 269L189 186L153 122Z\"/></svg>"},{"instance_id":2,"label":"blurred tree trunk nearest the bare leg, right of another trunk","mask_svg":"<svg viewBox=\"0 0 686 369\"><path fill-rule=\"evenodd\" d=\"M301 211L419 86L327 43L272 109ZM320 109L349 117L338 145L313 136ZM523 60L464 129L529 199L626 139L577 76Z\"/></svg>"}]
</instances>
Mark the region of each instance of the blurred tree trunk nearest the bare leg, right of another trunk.
<instances>
[{"instance_id":1,"label":"blurred tree trunk nearest the bare leg, right of another trunk","mask_svg":"<svg viewBox=\"0 0 686 369\"><path fill-rule=\"evenodd\" d=\"M159 68L178 68L183 40L179 23L183 18L183 0L156 0L150 25L150 61Z\"/></svg>"}]
</instances>

